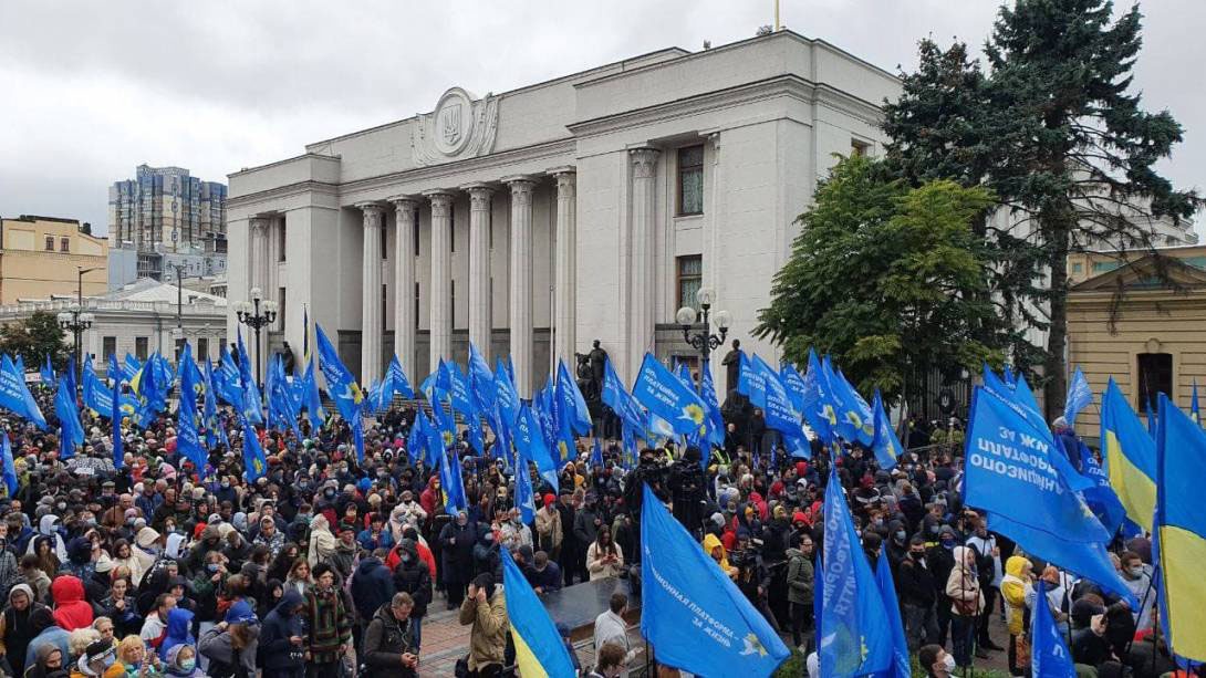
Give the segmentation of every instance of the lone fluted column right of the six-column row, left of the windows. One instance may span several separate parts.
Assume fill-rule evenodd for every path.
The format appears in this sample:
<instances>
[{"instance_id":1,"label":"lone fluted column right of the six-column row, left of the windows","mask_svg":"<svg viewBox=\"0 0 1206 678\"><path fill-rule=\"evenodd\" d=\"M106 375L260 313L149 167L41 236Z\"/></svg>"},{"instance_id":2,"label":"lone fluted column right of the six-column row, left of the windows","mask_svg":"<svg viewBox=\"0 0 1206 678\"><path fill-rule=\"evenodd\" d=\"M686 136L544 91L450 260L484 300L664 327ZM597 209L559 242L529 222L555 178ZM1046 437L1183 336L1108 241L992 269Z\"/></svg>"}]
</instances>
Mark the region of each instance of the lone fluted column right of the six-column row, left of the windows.
<instances>
[{"instance_id":1,"label":"lone fluted column right of the six-column row, left of the windows","mask_svg":"<svg viewBox=\"0 0 1206 678\"><path fill-rule=\"evenodd\" d=\"M654 349L654 257L656 250L656 148L633 148L632 162L632 270L628 292L628 372L636 376L646 351Z\"/></svg>"}]
</instances>

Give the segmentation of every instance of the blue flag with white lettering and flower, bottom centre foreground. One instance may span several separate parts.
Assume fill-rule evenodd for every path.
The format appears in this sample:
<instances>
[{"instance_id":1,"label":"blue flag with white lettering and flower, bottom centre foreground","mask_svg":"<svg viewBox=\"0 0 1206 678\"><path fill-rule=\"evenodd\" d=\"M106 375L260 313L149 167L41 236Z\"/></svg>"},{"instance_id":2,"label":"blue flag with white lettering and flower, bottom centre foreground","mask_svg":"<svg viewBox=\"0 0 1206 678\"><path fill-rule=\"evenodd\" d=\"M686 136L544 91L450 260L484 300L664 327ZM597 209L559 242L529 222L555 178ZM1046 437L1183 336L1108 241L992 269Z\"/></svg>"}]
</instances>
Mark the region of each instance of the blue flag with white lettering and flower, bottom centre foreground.
<instances>
[{"instance_id":1,"label":"blue flag with white lettering and flower, bottom centre foreground","mask_svg":"<svg viewBox=\"0 0 1206 678\"><path fill-rule=\"evenodd\" d=\"M657 660L703 676L769 676L788 647L649 486L642 491L640 635Z\"/></svg>"}]
</instances>

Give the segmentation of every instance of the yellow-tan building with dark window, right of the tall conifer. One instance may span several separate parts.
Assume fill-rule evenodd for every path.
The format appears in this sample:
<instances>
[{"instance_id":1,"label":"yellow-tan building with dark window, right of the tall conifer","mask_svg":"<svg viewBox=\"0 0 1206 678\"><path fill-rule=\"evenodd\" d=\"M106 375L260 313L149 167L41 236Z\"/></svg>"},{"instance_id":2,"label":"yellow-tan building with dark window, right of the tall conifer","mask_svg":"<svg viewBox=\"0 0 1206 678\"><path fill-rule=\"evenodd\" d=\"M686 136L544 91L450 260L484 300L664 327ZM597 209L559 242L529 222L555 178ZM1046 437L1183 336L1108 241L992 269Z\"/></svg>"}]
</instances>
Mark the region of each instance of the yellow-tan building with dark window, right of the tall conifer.
<instances>
[{"instance_id":1,"label":"yellow-tan building with dark window, right of the tall conifer","mask_svg":"<svg viewBox=\"0 0 1206 678\"><path fill-rule=\"evenodd\" d=\"M1069 276L1069 364L1084 370L1096 403L1078 433L1097 437L1111 376L1141 416L1159 392L1188 409L1194 380L1206 407L1206 246L1073 255Z\"/></svg>"}]
</instances>

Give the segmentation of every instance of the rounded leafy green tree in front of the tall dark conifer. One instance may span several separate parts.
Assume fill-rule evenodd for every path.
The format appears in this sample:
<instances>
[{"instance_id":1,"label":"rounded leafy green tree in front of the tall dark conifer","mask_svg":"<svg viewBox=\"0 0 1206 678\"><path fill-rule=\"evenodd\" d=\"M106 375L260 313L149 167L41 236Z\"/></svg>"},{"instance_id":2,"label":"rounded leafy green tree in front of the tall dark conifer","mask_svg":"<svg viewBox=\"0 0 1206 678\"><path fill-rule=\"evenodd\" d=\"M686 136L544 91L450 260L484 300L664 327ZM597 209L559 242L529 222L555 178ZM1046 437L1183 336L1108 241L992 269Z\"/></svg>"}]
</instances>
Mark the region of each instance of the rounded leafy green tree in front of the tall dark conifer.
<instances>
[{"instance_id":1,"label":"rounded leafy green tree in front of the tall dark conifer","mask_svg":"<svg viewBox=\"0 0 1206 678\"><path fill-rule=\"evenodd\" d=\"M755 334L803 363L827 352L863 393L895 402L904 379L1000 360L972 331L993 312L971 220L993 201L948 180L911 187L883 163L845 158L820 183Z\"/></svg>"}]
</instances>

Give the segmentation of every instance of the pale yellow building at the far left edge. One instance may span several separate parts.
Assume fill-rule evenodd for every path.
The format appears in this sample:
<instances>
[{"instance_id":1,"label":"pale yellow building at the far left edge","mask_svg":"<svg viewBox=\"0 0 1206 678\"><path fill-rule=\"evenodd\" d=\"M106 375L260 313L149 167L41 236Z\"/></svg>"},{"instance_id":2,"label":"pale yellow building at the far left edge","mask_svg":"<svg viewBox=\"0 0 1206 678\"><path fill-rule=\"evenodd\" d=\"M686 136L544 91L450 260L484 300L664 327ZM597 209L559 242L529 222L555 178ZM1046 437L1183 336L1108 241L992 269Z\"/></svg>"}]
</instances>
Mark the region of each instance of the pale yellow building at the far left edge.
<instances>
[{"instance_id":1,"label":"pale yellow building at the far left edge","mask_svg":"<svg viewBox=\"0 0 1206 678\"><path fill-rule=\"evenodd\" d=\"M0 222L0 304L75 297L80 269L83 296L109 290L109 241L80 232L69 218L22 215Z\"/></svg>"}]
</instances>

